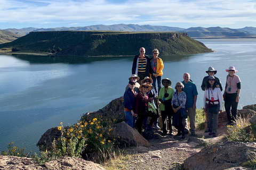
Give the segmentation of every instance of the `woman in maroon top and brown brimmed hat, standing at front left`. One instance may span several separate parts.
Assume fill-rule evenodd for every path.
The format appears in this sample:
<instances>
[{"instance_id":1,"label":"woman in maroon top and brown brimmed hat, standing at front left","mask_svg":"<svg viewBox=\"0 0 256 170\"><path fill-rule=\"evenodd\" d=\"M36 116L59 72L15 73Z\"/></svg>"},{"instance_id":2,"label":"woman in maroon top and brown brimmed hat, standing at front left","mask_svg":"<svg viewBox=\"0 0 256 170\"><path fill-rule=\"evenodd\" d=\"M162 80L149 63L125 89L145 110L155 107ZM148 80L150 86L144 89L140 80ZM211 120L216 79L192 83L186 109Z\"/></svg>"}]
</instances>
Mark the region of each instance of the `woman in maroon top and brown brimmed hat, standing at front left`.
<instances>
[{"instance_id":1,"label":"woman in maroon top and brown brimmed hat, standing at front left","mask_svg":"<svg viewBox=\"0 0 256 170\"><path fill-rule=\"evenodd\" d=\"M143 83L140 85L140 92L135 98L135 114L138 115L136 126L138 128L138 132L142 134L142 123L145 115L148 114L148 101L149 97L147 92L151 90L151 85L147 83ZM153 123L152 123L153 124ZM145 129L146 127L144 127Z\"/></svg>"}]
</instances>

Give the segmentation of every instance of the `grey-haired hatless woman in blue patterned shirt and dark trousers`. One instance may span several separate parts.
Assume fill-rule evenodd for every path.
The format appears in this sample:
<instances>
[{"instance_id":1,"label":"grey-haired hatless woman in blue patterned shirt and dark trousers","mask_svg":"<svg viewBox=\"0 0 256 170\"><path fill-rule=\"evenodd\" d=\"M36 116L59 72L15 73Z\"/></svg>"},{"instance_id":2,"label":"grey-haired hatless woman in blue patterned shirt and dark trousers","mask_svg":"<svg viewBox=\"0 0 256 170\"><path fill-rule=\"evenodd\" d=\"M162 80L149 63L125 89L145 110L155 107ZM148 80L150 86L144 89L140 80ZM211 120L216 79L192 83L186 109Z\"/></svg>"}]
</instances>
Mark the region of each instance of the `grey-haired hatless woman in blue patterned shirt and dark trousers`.
<instances>
[{"instance_id":1,"label":"grey-haired hatless woman in blue patterned shirt and dark trousers","mask_svg":"<svg viewBox=\"0 0 256 170\"><path fill-rule=\"evenodd\" d=\"M186 105L187 96L186 96L186 93L182 91L183 88L184 88L183 83L177 82L175 86L176 91L174 92L172 97L172 109L174 111L174 115L175 115L174 117L177 117L177 118L173 118L173 124L175 124L175 128L178 129L178 133L174 135L174 137L180 137L182 135L180 140L186 139L184 126L182 123L183 117L181 117L181 114L180 114L181 108L186 109L185 105Z\"/></svg>"}]
</instances>

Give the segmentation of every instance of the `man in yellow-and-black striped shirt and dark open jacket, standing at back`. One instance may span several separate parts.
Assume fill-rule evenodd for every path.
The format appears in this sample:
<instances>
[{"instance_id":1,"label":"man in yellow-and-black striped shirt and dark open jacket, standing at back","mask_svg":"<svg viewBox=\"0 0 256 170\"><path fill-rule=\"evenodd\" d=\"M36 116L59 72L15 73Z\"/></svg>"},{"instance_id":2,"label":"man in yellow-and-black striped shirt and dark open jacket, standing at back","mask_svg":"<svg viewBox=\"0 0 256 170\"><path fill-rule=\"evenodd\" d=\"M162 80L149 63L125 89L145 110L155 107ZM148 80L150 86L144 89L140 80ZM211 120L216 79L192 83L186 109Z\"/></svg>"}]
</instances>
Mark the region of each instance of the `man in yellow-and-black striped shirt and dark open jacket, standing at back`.
<instances>
[{"instance_id":1,"label":"man in yellow-and-black striped shirt and dark open jacket, standing at back","mask_svg":"<svg viewBox=\"0 0 256 170\"><path fill-rule=\"evenodd\" d=\"M132 64L132 74L138 75L140 80L143 80L145 77L149 77L150 72L150 58L145 55L146 50L144 47L140 48L140 54L136 55Z\"/></svg>"}]
</instances>

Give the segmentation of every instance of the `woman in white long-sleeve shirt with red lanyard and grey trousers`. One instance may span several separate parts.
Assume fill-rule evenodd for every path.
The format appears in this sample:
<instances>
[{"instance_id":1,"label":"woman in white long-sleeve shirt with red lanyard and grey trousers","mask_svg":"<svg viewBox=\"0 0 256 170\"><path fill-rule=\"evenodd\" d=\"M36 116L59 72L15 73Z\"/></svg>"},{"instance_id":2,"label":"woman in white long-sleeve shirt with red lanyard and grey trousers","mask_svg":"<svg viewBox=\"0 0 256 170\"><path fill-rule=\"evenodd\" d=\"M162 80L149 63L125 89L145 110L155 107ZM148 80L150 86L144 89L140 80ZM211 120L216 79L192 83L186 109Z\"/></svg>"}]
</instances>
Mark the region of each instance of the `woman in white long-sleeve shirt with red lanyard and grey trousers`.
<instances>
[{"instance_id":1,"label":"woman in white long-sleeve shirt with red lanyard and grey trousers","mask_svg":"<svg viewBox=\"0 0 256 170\"><path fill-rule=\"evenodd\" d=\"M216 87L216 80L213 76L207 79L207 86L204 92L204 112L209 117L209 135L216 137L218 116L222 112L222 96L220 88Z\"/></svg>"}]
</instances>

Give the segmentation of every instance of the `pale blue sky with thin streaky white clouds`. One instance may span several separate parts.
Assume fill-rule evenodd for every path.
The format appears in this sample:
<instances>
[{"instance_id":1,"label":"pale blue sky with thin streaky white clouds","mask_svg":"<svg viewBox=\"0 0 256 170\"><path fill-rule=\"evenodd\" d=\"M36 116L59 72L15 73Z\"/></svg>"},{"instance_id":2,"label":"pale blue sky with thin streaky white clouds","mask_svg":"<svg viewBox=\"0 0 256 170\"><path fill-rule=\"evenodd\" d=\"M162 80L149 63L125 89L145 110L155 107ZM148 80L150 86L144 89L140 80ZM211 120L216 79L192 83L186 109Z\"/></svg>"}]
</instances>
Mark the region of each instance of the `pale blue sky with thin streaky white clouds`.
<instances>
[{"instance_id":1,"label":"pale blue sky with thin streaky white clouds","mask_svg":"<svg viewBox=\"0 0 256 170\"><path fill-rule=\"evenodd\" d=\"M256 0L0 0L0 29L150 24L256 27Z\"/></svg>"}]
</instances>

